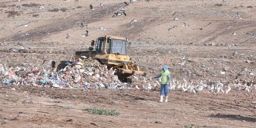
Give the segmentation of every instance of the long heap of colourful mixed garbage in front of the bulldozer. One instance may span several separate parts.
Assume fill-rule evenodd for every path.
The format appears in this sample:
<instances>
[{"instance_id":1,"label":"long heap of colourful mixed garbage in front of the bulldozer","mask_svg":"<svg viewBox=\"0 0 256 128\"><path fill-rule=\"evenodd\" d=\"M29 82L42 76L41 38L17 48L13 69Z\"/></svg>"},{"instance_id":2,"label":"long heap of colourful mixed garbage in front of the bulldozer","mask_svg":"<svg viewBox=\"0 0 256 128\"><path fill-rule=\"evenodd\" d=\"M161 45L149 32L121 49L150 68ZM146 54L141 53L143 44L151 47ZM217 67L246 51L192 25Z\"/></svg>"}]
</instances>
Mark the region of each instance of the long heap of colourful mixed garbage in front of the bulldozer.
<instances>
[{"instance_id":1,"label":"long heap of colourful mixed garbage in front of the bulldozer","mask_svg":"<svg viewBox=\"0 0 256 128\"><path fill-rule=\"evenodd\" d=\"M68 62L67 66L59 71L25 67L6 67L0 64L0 82L5 85L37 86L45 88L70 89L133 89L132 85L122 83L115 70L108 69L91 58Z\"/></svg>"}]
</instances>

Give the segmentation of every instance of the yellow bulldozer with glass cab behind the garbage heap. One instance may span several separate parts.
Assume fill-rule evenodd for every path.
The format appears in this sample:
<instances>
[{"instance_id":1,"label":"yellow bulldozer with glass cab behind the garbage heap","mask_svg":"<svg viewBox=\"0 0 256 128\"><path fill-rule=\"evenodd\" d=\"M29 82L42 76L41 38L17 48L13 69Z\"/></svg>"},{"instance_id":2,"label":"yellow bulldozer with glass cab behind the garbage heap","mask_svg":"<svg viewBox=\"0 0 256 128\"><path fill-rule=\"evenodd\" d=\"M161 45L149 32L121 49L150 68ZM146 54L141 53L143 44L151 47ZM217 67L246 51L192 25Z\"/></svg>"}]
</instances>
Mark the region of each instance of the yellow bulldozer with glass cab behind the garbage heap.
<instances>
[{"instance_id":1,"label":"yellow bulldozer with glass cab behind the garbage heap","mask_svg":"<svg viewBox=\"0 0 256 128\"><path fill-rule=\"evenodd\" d=\"M99 37L96 41L92 40L92 47L89 47L89 51L76 52L75 59L77 60L81 56L92 57L100 63L107 65L108 68L113 67L116 70L115 75L123 81L131 75L146 76L145 72L140 71L139 65L127 55L127 41L128 39L124 37Z\"/></svg>"}]
</instances>

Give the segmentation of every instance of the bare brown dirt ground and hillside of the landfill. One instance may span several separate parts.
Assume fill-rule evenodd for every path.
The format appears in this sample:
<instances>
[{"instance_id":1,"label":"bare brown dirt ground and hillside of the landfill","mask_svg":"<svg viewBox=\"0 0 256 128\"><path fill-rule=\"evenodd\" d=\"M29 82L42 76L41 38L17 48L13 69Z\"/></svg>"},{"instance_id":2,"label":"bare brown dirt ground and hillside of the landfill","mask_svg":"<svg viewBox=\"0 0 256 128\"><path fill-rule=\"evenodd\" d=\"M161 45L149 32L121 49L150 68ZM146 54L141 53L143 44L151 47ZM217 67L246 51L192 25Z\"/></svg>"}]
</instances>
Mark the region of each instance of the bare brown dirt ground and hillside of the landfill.
<instances>
[{"instance_id":1,"label":"bare brown dirt ground and hillside of the landfill","mask_svg":"<svg viewBox=\"0 0 256 128\"><path fill-rule=\"evenodd\" d=\"M43 8L37 8L38 5ZM112 17L123 6L124 1L120 0L0 1L0 63L28 69L49 68L51 60L72 60L75 51L88 50L86 44L90 45L91 40L112 35L129 38L127 53L140 65L140 70L147 72L147 77L158 75L161 65L166 64L172 78L179 81L186 78L227 85L237 80L255 84L256 37L246 34L256 32L255 1L136 0L125 6L127 16ZM172 16L178 11L184 16ZM239 12L241 19L228 20L222 11L230 16ZM174 17L179 20L173 20ZM132 19L137 22L129 25ZM31 23L25 27L28 22ZM81 22L88 24L88 28L81 28ZM183 22L189 26L182 27ZM21 26L16 28L17 25ZM168 31L173 26L178 27ZM204 29L196 29L201 27ZM82 36L85 30L89 31L86 38ZM71 36L66 39L67 34ZM22 49L20 44L31 49ZM44 59L47 61L42 64ZM183 66L178 64L185 60ZM220 74L224 69L227 69L225 75ZM143 82L133 80L133 84L141 87ZM159 87L133 92L0 85L0 127L254 128L256 125L254 90L250 93L231 90L228 95L175 90L170 92L167 103L157 102L158 91ZM68 104L73 107L60 109ZM92 115L82 110L93 107L116 109L121 115Z\"/></svg>"}]
</instances>

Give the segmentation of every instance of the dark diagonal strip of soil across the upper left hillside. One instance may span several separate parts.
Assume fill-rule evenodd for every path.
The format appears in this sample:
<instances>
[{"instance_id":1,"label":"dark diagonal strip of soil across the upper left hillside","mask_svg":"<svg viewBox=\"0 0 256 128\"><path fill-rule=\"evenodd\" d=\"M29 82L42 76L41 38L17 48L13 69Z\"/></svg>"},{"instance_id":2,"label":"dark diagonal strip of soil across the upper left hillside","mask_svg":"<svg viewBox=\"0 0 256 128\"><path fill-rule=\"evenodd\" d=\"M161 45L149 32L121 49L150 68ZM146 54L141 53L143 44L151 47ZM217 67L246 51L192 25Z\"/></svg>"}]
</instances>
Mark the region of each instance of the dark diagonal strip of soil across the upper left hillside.
<instances>
[{"instance_id":1,"label":"dark diagonal strip of soil across the upper left hillside","mask_svg":"<svg viewBox=\"0 0 256 128\"><path fill-rule=\"evenodd\" d=\"M72 14L72 16L74 16L74 15L79 16L76 19L74 19L74 17L72 17L72 16L66 18L65 20L57 19L57 20L55 20L55 22L48 24L46 26L40 26L38 28L34 28L30 31L27 31L26 33L28 33L29 36L26 36L26 39L24 39L21 36L13 35L13 36L1 38L0 40L3 40L3 41L16 41L16 40L36 41L38 39L46 38L47 36L51 35L51 34L48 34L47 32L51 32L56 29L58 29L58 30L56 30L54 33L68 30L80 22L85 22L86 24L96 22L98 19L102 19L102 17L112 14L113 12L115 12L116 10L121 8L122 5L123 5L123 3L109 5L105 8L100 9L99 11L89 10L87 13L82 13L82 12L85 12L85 10L81 10L80 13ZM81 20L81 19L85 19L85 20ZM39 32L45 32L45 33L39 33ZM23 33L23 34L25 34L25 33Z\"/></svg>"}]
</instances>

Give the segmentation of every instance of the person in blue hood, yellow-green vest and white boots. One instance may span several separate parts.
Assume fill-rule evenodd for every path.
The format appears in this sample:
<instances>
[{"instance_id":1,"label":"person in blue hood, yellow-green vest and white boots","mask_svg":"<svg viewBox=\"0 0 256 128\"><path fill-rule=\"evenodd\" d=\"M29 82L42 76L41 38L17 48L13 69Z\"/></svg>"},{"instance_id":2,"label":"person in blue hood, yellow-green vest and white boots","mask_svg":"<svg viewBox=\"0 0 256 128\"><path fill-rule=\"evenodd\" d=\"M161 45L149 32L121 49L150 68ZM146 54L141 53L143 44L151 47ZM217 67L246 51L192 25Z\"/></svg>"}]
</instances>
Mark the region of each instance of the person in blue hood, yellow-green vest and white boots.
<instances>
[{"instance_id":1,"label":"person in blue hood, yellow-green vest and white boots","mask_svg":"<svg viewBox=\"0 0 256 128\"><path fill-rule=\"evenodd\" d=\"M165 95L165 101L168 101L168 92L169 92L169 84L171 84L171 73L168 71L168 66L163 65L163 70L161 71L161 74L158 76L155 76L154 79L161 77L161 90L160 90L160 100L159 102L163 102L163 98Z\"/></svg>"}]
</instances>

